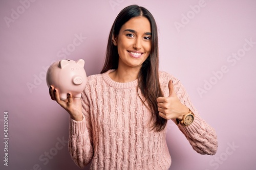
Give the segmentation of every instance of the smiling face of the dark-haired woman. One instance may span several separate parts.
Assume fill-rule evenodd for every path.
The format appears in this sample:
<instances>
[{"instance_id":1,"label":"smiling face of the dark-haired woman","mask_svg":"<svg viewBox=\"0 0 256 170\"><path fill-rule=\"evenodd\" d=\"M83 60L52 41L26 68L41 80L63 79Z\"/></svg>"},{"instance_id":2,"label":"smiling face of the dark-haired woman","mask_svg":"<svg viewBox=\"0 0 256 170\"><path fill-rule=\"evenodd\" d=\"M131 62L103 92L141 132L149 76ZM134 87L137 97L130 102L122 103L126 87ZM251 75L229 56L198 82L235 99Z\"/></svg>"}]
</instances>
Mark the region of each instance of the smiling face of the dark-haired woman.
<instances>
[{"instance_id":1,"label":"smiling face of the dark-haired woman","mask_svg":"<svg viewBox=\"0 0 256 170\"><path fill-rule=\"evenodd\" d=\"M146 17L134 17L120 29L117 37L113 37L119 55L118 68L141 68L151 52L151 25Z\"/></svg>"}]
</instances>

